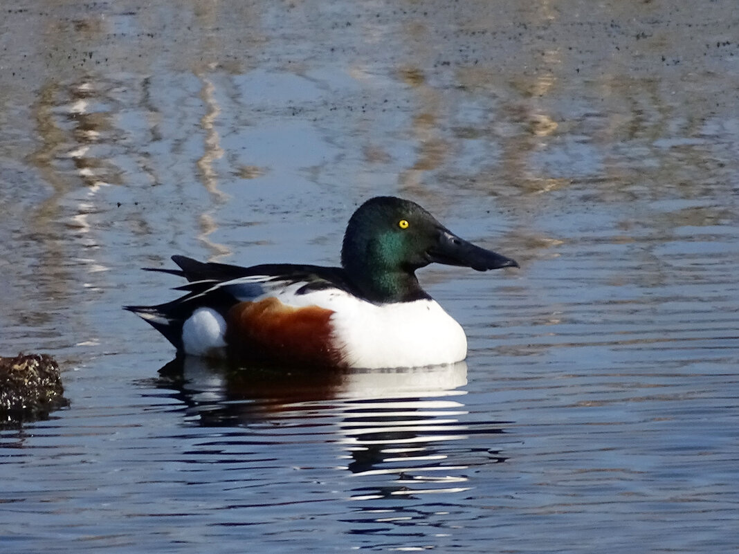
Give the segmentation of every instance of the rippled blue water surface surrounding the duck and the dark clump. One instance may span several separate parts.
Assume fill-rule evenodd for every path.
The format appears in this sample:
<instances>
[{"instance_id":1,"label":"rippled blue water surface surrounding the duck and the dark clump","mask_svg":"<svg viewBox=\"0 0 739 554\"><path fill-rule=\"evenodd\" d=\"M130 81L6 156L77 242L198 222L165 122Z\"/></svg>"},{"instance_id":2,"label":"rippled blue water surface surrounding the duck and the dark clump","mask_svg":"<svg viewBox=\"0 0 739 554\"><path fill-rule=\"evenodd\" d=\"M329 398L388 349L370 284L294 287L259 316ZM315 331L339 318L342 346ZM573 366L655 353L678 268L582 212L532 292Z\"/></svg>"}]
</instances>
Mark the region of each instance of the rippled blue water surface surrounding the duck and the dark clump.
<instances>
[{"instance_id":1,"label":"rippled blue water surface surrounding the duck and the dark clump","mask_svg":"<svg viewBox=\"0 0 739 554\"><path fill-rule=\"evenodd\" d=\"M0 16L3 552L739 548L739 12L19 1ZM167 365L168 256L335 264L375 194L518 259L429 267L449 368ZM166 366L163 368L163 366ZM163 368L160 372L160 368Z\"/></svg>"}]
</instances>

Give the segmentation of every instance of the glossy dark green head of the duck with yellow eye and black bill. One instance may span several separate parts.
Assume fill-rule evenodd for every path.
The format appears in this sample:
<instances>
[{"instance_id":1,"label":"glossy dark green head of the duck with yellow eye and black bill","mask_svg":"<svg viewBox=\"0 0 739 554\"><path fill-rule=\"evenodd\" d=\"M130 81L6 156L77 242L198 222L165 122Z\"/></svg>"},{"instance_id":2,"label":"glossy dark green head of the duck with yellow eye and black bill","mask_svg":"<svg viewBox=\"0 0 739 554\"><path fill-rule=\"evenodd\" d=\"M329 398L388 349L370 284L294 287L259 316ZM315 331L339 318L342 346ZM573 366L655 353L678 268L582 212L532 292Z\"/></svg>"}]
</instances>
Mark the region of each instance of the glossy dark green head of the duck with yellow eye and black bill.
<instances>
[{"instance_id":1,"label":"glossy dark green head of the duck with yellow eye and black bill","mask_svg":"<svg viewBox=\"0 0 739 554\"><path fill-rule=\"evenodd\" d=\"M415 202L376 196L349 220L341 264L369 301L426 298L415 270L432 262L486 271L518 267L515 260L460 239Z\"/></svg>"}]
</instances>

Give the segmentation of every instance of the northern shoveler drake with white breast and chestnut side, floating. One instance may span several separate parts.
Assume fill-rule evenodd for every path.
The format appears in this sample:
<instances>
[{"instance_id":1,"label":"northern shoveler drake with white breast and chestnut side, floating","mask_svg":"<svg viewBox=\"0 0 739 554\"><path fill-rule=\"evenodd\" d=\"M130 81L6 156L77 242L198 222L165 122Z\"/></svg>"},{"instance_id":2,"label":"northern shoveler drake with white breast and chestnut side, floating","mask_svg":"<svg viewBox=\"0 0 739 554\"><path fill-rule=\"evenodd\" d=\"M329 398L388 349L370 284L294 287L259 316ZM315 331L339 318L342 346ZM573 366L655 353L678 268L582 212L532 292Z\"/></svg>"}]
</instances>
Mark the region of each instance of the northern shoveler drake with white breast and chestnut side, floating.
<instances>
[{"instance_id":1,"label":"northern shoveler drake with white breast and chestnut side, floating","mask_svg":"<svg viewBox=\"0 0 739 554\"><path fill-rule=\"evenodd\" d=\"M353 214L341 267L239 267L172 256L181 298L127 306L179 353L355 368L415 367L466 358L467 338L418 284L432 262L477 271L515 260L460 239L415 202L378 196Z\"/></svg>"}]
</instances>

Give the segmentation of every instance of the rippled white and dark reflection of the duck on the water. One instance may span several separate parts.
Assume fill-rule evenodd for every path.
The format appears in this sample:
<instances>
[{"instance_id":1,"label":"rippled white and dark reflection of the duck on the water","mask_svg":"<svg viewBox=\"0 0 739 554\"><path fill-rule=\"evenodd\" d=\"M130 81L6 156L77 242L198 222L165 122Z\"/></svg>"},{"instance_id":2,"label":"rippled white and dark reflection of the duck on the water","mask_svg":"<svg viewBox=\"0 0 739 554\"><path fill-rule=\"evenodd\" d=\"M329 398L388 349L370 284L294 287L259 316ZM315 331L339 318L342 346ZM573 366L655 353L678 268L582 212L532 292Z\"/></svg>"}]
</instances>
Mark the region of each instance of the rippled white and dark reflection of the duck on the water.
<instances>
[{"instance_id":1,"label":"rippled white and dark reflection of the duck on the water","mask_svg":"<svg viewBox=\"0 0 739 554\"><path fill-rule=\"evenodd\" d=\"M459 492L471 466L504 461L490 441L503 422L474 421L463 403L466 383L465 362L320 371L177 358L160 370L160 386L177 391L189 423L289 420L306 442L320 425L321 440L341 445L338 468L363 477L348 491L357 500Z\"/></svg>"}]
</instances>

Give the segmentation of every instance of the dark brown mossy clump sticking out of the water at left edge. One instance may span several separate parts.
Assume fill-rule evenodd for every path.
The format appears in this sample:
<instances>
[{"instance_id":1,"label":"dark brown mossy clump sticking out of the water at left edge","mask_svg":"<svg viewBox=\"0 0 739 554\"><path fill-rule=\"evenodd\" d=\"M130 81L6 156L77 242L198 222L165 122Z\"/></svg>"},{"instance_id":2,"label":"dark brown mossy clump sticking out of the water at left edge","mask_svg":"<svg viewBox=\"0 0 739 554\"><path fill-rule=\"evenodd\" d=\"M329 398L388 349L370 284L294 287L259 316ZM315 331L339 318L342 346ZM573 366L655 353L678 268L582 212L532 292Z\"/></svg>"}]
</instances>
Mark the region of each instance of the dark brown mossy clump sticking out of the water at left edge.
<instances>
[{"instance_id":1,"label":"dark brown mossy clump sticking out of the water at left edge","mask_svg":"<svg viewBox=\"0 0 739 554\"><path fill-rule=\"evenodd\" d=\"M69 403L59 366L46 354L0 358L0 427L41 420Z\"/></svg>"}]
</instances>

